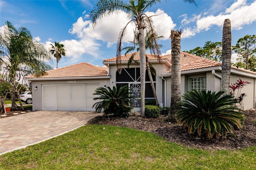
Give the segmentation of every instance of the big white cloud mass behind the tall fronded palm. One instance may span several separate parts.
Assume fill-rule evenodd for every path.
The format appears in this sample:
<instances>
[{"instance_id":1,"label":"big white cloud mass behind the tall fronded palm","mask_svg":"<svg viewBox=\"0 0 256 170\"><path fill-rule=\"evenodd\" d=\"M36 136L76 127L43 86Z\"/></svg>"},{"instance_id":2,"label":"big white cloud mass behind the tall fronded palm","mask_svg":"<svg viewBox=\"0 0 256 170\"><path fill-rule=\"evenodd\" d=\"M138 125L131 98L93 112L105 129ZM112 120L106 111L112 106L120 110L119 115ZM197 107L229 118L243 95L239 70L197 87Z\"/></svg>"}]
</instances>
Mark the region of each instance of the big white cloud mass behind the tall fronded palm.
<instances>
[{"instance_id":1,"label":"big white cloud mass behind the tall fronded palm","mask_svg":"<svg viewBox=\"0 0 256 170\"><path fill-rule=\"evenodd\" d=\"M173 23L172 18L160 9L156 12L146 12L146 14L148 16L153 16L152 20L158 36L164 36L166 39L169 38L170 30L176 26L176 24ZM66 56L72 56L74 60L84 53L100 57L98 54L98 49L100 47L98 40L105 42L104 44L107 47L111 47L113 44L115 45L120 31L128 22L127 14L125 12L119 12L118 14L102 18L102 20L97 22L97 25L93 29L91 21L88 20L88 15L85 15L84 18L78 18L69 30L69 33L75 35L77 40L65 40L61 42L65 45L65 49L67 50ZM134 39L134 29L134 24L129 24L127 26L126 36L123 38L123 43L127 43Z\"/></svg>"}]
</instances>

